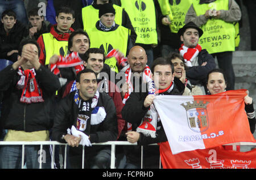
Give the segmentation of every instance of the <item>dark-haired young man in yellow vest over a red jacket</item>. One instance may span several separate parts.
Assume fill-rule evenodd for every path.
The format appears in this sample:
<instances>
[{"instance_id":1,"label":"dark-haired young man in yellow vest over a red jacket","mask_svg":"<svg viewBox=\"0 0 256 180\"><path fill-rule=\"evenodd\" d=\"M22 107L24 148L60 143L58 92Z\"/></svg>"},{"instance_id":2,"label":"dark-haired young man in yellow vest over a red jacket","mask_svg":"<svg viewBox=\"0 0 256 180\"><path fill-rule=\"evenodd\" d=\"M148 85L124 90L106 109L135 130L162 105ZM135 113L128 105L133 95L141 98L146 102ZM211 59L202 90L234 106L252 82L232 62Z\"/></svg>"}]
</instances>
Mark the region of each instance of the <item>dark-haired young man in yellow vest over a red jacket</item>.
<instances>
[{"instance_id":1,"label":"dark-haired young man in yellow vest over a red jacket","mask_svg":"<svg viewBox=\"0 0 256 180\"><path fill-rule=\"evenodd\" d=\"M68 38L74 30L71 25L75 22L75 12L69 7L60 7L56 12L57 24L52 25L49 33L44 33L38 38L38 44L41 49L40 63L48 65L49 59L53 54L69 54Z\"/></svg>"}]
</instances>

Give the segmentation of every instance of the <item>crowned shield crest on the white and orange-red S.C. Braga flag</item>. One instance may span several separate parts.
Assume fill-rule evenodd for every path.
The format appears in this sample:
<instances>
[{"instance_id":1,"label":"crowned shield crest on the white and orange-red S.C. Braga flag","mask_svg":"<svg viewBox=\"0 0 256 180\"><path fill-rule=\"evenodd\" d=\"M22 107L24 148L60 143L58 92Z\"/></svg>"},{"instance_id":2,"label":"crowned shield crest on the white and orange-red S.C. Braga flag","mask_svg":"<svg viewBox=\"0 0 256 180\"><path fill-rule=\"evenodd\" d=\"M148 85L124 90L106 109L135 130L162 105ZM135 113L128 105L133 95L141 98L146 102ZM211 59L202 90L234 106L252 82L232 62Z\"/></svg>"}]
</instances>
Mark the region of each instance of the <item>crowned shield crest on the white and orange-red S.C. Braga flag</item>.
<instances>
[{"instance_id":1,"label":"crowned shield crest on the white and orange-red S.C. Braga flag","mask_svg":"<svg viewBox=\"0 0 256 180\"><path fill-rule=\"evenodd\" d=\"M188 126L194 132L204 132L209 127L209 120L207 115L207 105L209 102L203 101L190 101L183 106L187 113Z\"/></svg>"}]
</instances>

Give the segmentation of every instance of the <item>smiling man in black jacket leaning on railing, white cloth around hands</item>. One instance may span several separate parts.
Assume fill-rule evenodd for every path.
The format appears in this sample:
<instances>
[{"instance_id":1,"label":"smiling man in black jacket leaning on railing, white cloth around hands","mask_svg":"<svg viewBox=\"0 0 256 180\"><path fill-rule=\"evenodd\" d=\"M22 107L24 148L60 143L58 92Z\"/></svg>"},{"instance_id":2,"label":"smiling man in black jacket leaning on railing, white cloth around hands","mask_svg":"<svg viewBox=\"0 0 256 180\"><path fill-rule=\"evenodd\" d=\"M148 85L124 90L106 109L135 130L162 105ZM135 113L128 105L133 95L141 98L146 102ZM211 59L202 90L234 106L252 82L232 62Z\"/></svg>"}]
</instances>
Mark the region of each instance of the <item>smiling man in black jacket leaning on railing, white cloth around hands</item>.
<instances>
[{"instance_id":1,"label":"smiling man in black jacket leaning on railing, white cloth around hands","mask_svg":"<svg viewBox=\"0 0 256 180\"><path fill-rule=\"evenodd\" d=\"M97 91L93 70L77 74L77 91L60 101L54 119L53 139L71 145L68 168L81 168L85 147L85 168L109 168L110 147L93 145L117 139L117 115L112 98ZM71 133L67 133L67 128ZM78 135L79 134L79 135ZM78 147L79 146L79 147Z\"/></svg>"}]
</instances>

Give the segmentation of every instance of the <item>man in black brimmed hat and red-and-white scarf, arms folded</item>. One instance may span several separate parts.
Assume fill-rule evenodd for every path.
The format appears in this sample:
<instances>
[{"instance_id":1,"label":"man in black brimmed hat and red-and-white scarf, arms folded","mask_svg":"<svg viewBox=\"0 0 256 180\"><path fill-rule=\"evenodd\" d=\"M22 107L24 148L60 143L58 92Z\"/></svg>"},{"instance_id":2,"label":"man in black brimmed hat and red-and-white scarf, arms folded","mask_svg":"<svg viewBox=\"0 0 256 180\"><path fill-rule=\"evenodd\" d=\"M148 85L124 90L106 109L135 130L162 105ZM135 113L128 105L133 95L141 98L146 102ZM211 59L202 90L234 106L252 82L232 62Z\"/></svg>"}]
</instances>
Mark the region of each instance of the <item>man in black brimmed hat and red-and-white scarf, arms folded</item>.
<instances>
[{"instance_id":1,"label":"man in black brimmed hat and red-and-white scarf, arms folded","mask_svg":"<svg viewBox=\"0 0 256 180\"><path fill-rule=\"evenodd\" d=\"M207 74L216 67L216 63L212 55L198 44L203 31L195 23L189 22L179 29L178 35L183 42L179 51L188 67L186 76L192 85L199 85L205 94Z\"/></svg>"}]
</instances>

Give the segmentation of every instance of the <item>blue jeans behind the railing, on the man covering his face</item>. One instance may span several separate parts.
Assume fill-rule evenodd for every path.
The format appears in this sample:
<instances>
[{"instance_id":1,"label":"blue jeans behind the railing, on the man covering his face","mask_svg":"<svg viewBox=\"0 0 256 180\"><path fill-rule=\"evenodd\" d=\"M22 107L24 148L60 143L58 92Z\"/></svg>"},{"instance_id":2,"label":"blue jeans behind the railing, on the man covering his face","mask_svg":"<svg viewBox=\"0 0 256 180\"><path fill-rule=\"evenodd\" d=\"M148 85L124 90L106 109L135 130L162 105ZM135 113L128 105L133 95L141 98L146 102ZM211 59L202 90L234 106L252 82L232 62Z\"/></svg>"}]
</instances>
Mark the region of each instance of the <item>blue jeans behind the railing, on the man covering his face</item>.
<instances>
[{"instance_id":1,"label":"blue jeans behind the railing, on the man covering his face","mask_svg":"<svg viewBox=\"0 0 256 180\"><path fill-rule=\"evenodd\" d=\"M40 145L25 145L24 162L27 169L39 169ZM22 168L22 145L0 146L0 169ZM43 145L42 168L51 168L49 146Z\"/></svg>"}]
</instances>

